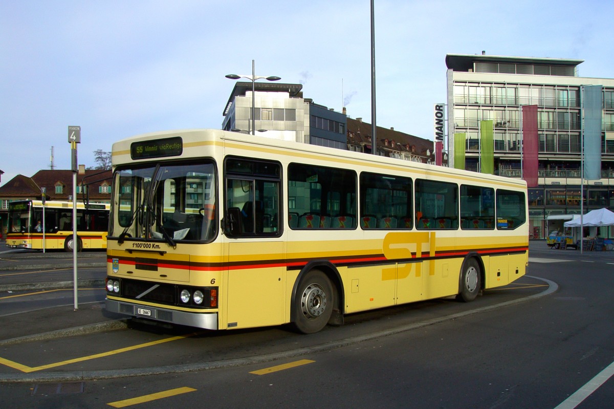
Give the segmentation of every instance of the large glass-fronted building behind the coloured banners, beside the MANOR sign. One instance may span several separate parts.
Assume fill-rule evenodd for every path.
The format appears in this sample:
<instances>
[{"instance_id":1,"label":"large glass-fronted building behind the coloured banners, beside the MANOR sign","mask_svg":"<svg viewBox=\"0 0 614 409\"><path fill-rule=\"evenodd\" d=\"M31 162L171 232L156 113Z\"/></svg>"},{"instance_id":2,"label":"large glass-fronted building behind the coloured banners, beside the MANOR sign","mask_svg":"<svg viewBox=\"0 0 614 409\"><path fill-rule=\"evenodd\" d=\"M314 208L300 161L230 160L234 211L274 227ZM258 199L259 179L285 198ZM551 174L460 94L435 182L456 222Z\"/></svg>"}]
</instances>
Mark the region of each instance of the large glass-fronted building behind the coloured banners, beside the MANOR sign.
<instances>
[{"instance_id":1,"label":"large glass-fronted building behind the coloured banners, beside the MANOR sign","mask_svg":"<svg viewBox=\"0 0 614 409\"><path fill-rule=\"evenodd\" d=\"M538 106L538 186L529 188L532 238L546 238L562 228L564 215L580 214L582 85L602 86L601 179L584 181L584 212L614 209L614 79L580 77L582 62L446 55L448 152L457 149L454 134L464 133L466 169L480 171L479 124L492 120L495 174L521 177L521 106ZM605 227L592 234L614 236Z\"/></svg>"}]
</instances>

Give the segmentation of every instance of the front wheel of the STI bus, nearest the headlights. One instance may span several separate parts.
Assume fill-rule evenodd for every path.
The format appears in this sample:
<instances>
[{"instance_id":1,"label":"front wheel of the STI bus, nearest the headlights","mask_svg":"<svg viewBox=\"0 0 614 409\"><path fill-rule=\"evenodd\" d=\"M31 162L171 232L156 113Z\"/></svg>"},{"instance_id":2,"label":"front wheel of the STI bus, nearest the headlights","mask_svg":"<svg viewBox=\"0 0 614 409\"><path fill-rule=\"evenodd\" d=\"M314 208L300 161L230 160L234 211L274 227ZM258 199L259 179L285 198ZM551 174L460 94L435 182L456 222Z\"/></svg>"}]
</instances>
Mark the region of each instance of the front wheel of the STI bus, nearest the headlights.
<instances>
[{"instance_id":1,"label":"front wheel of the STI bus, nearest the headlights","mask_svg":"<svg viewBox=\"0 0 614 409\"><path fill-rule=\"evenodd\" d=\"M298 332L314 333L326 326L333 311L333 287L330 279L319 270L306 273L298 283L293 303Z\"/></svg>"}]
</instances>

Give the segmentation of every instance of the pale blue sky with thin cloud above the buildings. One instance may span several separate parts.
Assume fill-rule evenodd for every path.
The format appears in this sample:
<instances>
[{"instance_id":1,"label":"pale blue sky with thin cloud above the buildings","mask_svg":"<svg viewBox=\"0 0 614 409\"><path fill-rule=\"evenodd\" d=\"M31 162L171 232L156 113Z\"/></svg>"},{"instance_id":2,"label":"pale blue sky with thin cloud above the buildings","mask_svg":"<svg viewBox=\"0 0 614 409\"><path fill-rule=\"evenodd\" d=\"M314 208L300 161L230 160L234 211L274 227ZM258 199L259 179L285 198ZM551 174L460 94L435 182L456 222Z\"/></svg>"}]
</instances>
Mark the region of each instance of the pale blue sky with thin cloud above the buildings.
<instances>
[{"instance_id":1,"label":"pale blue sky with thin cloud above the buildings","mask_svg":"<svg viewBox=\"0 0 614 409\"><path fill-rule=\"evenodd\" d=\"M376 123L433 139L446 54L585 60L614 78L614 1L375 0ZM589 18L590 16L590 18ZM369 0L0 0L1 184L152 131L221 128L235 80L279 76L371 122Z\"/></svg>"}]
</instances>

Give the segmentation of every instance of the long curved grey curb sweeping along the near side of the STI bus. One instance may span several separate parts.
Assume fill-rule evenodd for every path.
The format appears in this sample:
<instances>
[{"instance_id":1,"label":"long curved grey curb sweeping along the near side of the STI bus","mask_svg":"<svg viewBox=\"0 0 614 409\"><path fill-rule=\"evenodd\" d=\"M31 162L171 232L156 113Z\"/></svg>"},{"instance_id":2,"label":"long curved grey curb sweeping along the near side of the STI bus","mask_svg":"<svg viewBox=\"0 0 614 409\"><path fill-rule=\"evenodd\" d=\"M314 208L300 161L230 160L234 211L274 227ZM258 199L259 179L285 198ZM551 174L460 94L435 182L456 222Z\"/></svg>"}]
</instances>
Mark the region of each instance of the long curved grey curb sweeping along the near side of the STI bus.
<instances>
[{"instance_id":1,"label":"long curved grey curb sweeping along the near side of the STI bus","mask_svg":"<svg viewBox=\"0 0 614 409\"><path fill-rule=\"evenodd\" d=\"M113 379L113 378L126 378L128 376L146 376L146 375L161 375L165 373L185 373L185 372L198 372L203 370L219 369L239 367L243 365L260 364L263 362L271 362L273 360L287 359L297 356L305 356L314 353L322 353L330 351L332 349L343 348L344 346L353 345L362 341L370 341L376 338L389 337L402 332L410 330L428 327L430 325L439 324L445 321L451 321L472 314L480 313L483 311L494 310L495 308L503 308L505 306L516 305L519 303L535 300L537 298L545 297L546 295L553 294L559 289L558 284L554 281L550 281L545 278L526 276L529 278L538 279L548 284L548 289L538 294L529 295L525 298L518 298L516 300L510 300L507 302L499 303L496 305L485 306L477 308L476 310L463 311L462 313L451 314L443 317L435 317L422 322L416 322L414 324L402 325L395 329L383 330L367 335L359 335L357 337L350 337L344 340L332 341L330 343L324 343L308 348L298 348L291 351L284 351L281 353L272 353L262 356L243 357L237 359L226 359L213 362L199 362L196 364L184 364L184 365L167 365L164 367L149 367L149 368L130 368L130 369L117 369L117 370L92 370L92 371L77 371L77 372L47 372L34 374L0 374L0 383L17 383L17 382L61 382L61 381L87 381L87 380L100 380L100 379Z\"/></svg>"}]
</instances>

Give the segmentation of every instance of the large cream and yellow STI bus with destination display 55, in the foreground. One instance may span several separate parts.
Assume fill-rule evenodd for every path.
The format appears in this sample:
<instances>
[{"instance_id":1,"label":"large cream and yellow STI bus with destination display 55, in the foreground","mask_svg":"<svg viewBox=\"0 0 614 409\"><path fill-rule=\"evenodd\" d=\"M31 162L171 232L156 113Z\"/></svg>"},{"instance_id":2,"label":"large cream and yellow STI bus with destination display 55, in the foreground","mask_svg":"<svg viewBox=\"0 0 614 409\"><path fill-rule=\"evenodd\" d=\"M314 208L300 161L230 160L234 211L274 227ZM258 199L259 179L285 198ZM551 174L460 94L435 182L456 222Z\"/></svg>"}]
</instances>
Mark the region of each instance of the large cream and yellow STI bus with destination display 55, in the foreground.
<instances>
[{"instance_id":1,"label":"large cream and yellow STI bus with destination display 55, in the foreground","mask_svg":"<svg viewBox=\"0 0 614 409\"><path fill-rule=\"evenodd\" d=\"M107 310L211 330L292 324L523 276L526 183L221 130L112 149Z\"/></svg>"}]
</instances>

